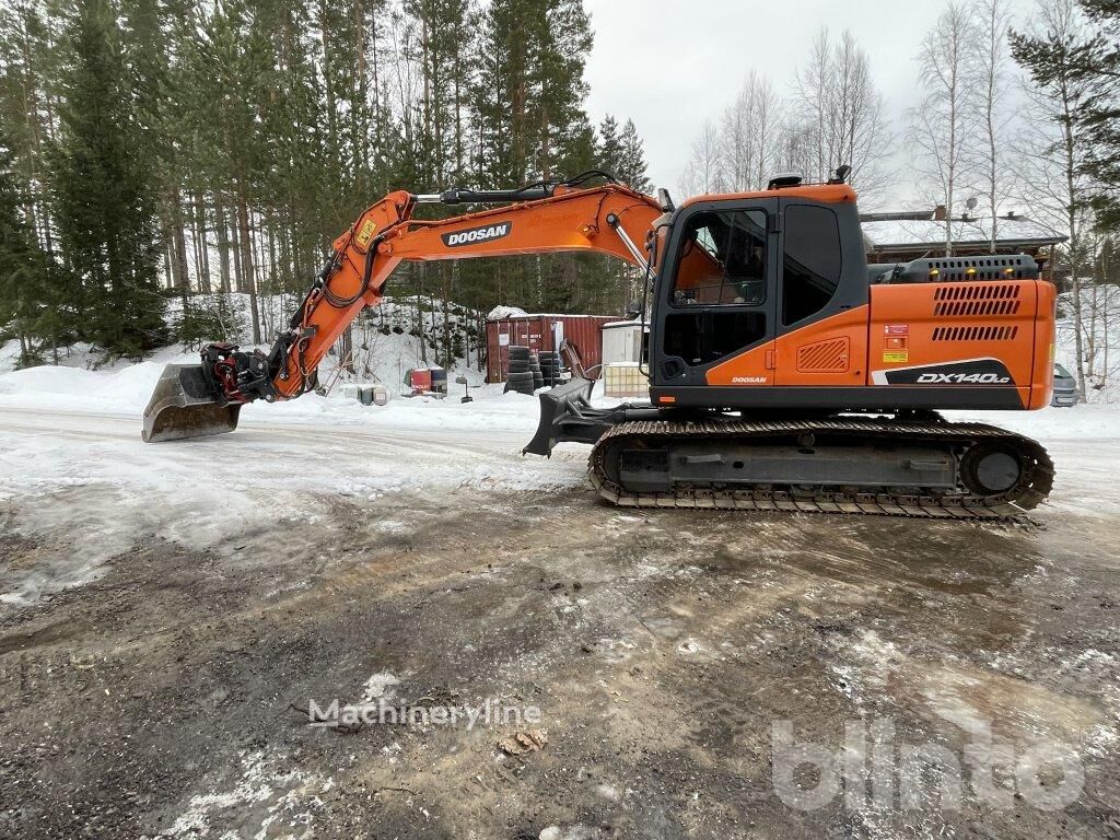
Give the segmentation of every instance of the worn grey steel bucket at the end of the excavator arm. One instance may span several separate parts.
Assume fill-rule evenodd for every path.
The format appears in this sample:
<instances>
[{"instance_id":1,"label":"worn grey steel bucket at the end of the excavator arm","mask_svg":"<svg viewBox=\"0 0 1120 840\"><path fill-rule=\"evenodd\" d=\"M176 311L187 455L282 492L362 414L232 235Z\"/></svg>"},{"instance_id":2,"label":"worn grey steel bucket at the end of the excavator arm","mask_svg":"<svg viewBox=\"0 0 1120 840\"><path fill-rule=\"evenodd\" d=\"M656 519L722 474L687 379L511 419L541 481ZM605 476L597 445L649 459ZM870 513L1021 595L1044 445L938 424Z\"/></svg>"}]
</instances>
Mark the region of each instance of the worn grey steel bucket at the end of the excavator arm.
<instances>
[{"instance_id":1,"label":"worn grey steel bucket at the end of the excavator arm","mask_svg":"<svg viewBox=\"0 0 1120 840\"><path fill-rule=\"evenodd\" d=\"M202 365L168 365L143 412L144 442L204 438L237 428L240 403L215 398Z\"/></svg>"}]
</instances>

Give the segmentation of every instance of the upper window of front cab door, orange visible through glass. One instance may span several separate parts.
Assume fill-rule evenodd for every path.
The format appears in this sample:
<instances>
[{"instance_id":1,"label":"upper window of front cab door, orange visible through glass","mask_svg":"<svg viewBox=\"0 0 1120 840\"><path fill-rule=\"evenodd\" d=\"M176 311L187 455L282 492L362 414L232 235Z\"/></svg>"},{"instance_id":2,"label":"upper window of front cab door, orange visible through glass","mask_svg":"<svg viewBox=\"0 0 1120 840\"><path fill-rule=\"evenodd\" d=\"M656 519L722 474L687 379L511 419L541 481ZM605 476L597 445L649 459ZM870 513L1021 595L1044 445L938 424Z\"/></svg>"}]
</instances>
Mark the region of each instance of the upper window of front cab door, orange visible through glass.
<instances>
[{"instance_id":1,"label":"upper window of front cab door, orange visible through glass","mask_svg":"<svg viewBox=\"0 0 1120 840\"><path fill-rule=\"evenodd\" d=\"M693 215L673 283L674 306L760 306L766 301L766 213L760 209Z\"/></svg>"}]
</instances>

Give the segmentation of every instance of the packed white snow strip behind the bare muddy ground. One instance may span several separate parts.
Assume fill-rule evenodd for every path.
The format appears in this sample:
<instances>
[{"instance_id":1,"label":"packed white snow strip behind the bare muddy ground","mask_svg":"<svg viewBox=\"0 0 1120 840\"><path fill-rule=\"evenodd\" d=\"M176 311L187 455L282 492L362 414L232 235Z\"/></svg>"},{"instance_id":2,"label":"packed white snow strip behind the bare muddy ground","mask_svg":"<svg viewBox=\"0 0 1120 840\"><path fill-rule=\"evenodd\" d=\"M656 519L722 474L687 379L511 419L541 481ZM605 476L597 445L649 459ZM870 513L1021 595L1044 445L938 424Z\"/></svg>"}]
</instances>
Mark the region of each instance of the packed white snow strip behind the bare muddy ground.
<instances>
[{"instance_id":1,"label":"packed white snow strip behind the bare muddy ground","mask_svg":"<svg viewBox=\"0 0 1120 840\"><path fill-rule=\"evenodd\" d=\"M0 601L25 604L90 580L146 535L196 550L217 547L280 516L314 521L325 500L468 491L485 504L478 491L586 487L586 447L564 445L551 459L520 454L536 427L538 400L503 394L501 385L472 389L469 403L459 402L458 390L446 400L395 396L385 407L308 394L245 407L233 435L144 445L140 416L166 361L176 358L0 374L0 504L19 511L12 528L24 536L62 531L84 547L10 572ZM1042 516L1100 517L1120 514L1112 479L1118 412L1094 404L951 413L1020 431L1051 449L1058 474Z\"/></svg>"}]
</instances>

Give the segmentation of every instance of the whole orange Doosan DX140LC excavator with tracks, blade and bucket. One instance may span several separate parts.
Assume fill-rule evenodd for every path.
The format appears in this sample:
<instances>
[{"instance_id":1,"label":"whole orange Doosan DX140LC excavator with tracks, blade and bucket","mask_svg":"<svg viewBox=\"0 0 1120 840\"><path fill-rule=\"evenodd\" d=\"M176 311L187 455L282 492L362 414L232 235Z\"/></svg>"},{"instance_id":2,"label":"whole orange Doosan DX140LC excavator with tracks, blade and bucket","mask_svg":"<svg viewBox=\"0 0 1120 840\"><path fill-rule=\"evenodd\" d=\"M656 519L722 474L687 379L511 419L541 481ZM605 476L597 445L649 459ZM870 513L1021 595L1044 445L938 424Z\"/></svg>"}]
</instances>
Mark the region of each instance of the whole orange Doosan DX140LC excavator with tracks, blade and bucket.
<instances>
[{"instance_id":1,"label":"whole orange Doosan DX140LC excavator with tracks, blade and bucket","mask_svg":"<svg viewBox=\"0 0 1120 840\"><path fill-rule=\"evenodd\" d=\"M200 365L169 365L143 439L233 431L246 402L314 389L402 261L595 252L645 273L650 401L595 408L575 379L540 394L524 451L592 445L590 479L609 502L964 519L1035 507L1054 477L1042 446L937 411L1048 404L1054 287L1026 254L868 265L847 172L680 206L605 172L392 193L334 242L271 352L213 344ZM413 218L426 203L494 206Z\"/></svg>"}]
</instances>

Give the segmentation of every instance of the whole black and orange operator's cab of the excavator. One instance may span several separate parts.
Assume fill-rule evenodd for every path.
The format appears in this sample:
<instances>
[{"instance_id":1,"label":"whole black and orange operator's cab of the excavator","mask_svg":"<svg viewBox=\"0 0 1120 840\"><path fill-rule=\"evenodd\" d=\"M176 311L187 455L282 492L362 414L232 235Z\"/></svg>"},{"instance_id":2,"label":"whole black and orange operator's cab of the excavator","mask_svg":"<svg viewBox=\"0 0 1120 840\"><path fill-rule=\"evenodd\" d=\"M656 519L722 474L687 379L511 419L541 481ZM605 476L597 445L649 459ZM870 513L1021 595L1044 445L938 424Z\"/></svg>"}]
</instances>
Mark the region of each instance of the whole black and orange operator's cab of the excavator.
<instances>
[{"instance_id":1,"label":"whole black and orange operator's cab of the excavator","mask_svg":"<svg viewBox=\"0 0 1120 840\"><path fill-rule=\"evenodd\" d=\"M866 323L846 317L868 302L849 187L685 203L663 263L651 307L655 404L792 408L782 386L864 384ZM793 336L842 351L791 357Z\"/></svg>"}]
</instances>

